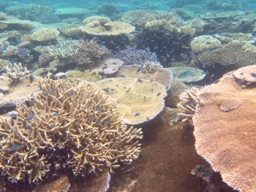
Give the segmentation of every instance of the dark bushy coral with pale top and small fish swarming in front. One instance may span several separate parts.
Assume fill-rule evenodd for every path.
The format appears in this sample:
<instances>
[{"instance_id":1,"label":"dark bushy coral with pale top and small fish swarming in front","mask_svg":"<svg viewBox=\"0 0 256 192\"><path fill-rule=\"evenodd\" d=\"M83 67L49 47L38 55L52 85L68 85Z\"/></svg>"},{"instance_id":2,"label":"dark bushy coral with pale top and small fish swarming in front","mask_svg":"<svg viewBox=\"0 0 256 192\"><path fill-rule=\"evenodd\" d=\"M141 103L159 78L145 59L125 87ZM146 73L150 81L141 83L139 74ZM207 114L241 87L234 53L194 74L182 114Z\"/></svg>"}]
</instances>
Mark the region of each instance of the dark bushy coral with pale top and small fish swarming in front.
<instances>
[{"instance_id":1,"label":"dark bushy coral with pale top and small fish swarming in front","mask_svg":"<svg viewBox=\"0 0 256 192\"><path fill-rule=\"evenodd\" d=\"M191 26L177 26L170 20L146 22L138 39L139 47L149 47L158 55L162 64L182 58L190 49L194 30Z\"/></svg>"}]
</instances>

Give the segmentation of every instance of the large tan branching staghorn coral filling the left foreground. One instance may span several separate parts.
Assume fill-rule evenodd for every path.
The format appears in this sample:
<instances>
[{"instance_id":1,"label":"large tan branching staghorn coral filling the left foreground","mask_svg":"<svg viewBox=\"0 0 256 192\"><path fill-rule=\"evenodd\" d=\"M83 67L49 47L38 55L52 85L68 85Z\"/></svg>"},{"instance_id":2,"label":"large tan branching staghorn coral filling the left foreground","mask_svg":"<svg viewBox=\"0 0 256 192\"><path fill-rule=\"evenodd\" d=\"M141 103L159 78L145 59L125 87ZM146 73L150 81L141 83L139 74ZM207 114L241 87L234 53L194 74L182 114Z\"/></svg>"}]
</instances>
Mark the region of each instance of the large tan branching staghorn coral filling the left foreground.
<instances>
[{"instance_id":1,"label":"large tan branching staghorn coral filling the left foreground","mask_svg":"<svg viewBox=\"0 0 256 192\"><path fill-rule=\"evenodd\" d=\"M10 182L38 182L66 167L86 175L138 158L141 129L124 125L101 90L49 78L39 86L17 118L1 120L0 172Z\"/></svg>"}]
</instances>

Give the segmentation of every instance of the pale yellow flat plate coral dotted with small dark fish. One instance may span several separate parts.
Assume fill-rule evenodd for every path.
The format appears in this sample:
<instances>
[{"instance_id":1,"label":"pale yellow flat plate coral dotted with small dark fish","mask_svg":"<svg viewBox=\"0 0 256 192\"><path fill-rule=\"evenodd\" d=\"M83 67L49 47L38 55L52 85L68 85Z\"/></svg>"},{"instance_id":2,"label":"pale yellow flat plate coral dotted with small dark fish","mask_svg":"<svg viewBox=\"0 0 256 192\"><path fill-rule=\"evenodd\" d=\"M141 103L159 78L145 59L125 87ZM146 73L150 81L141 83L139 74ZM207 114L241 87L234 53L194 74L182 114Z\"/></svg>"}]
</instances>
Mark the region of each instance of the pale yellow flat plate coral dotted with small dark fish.
<instances>
[{"instance_id":1,"label":"pale yellow flat plate coral dotted with small dark fish","mask_svg":"<svg viewBox=\"0 0 256 192\"><path fill-rule=\"evenodd\" d=\"M95 86L114 98L122 121L137 125L153 119L164 107L165 86L140 78L106 78Z\"/></svg>"}]
</instances>

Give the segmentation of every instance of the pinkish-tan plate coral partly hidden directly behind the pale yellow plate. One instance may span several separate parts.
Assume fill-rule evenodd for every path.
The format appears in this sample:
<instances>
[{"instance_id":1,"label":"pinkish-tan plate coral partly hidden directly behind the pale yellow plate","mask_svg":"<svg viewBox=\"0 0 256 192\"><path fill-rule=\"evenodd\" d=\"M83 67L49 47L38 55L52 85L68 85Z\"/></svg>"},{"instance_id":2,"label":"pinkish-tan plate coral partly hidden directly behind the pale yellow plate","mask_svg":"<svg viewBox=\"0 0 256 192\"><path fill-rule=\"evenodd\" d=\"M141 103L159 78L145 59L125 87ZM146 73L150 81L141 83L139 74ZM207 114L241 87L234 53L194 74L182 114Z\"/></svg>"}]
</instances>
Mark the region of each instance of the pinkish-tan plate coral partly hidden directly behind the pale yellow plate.
<instances>
[{"instance_id":1,"label":"pinkish-tan plate coral partly hidden directly behind the pale yellow plate","mask_svg":"<svg viewBox=\"0 0 256 192\"><path fill-rule=\"evenodd\" d=\"M154 82L166 87L166 90L170 88L170 81L172 79L172 73L170 70L161 68L161 70L156 71L155 73L142 73L142 66L140 65L131 65L131 66L122 66L117 73L117 76L122 78L142 78Z\"/></svg>"}]
</instances>

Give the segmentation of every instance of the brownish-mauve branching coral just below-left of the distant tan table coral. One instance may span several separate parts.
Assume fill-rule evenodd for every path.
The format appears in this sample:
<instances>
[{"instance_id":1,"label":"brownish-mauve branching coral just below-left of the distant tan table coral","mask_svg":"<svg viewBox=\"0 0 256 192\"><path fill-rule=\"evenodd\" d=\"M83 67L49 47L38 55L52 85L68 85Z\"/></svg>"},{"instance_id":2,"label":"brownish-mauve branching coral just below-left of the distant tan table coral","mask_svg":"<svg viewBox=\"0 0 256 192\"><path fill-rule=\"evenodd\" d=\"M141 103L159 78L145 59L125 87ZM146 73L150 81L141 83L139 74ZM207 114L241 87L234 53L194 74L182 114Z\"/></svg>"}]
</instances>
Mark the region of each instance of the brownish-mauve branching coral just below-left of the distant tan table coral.
<instances>
[{"instance_id":1,"label":"brownish-mauve branching coral just below-left of the distant tan table coral","mask_svg":"<svg viewBox=\"0 0 256 192\"><path fill-rule=\"evenodd\" d=\"M78 51L72 57L78 65L94 65L96 60L109 56L111 53L106 46L99 45L94 39L82 41L78 45Z\"/></svg>"}]
</instances>

